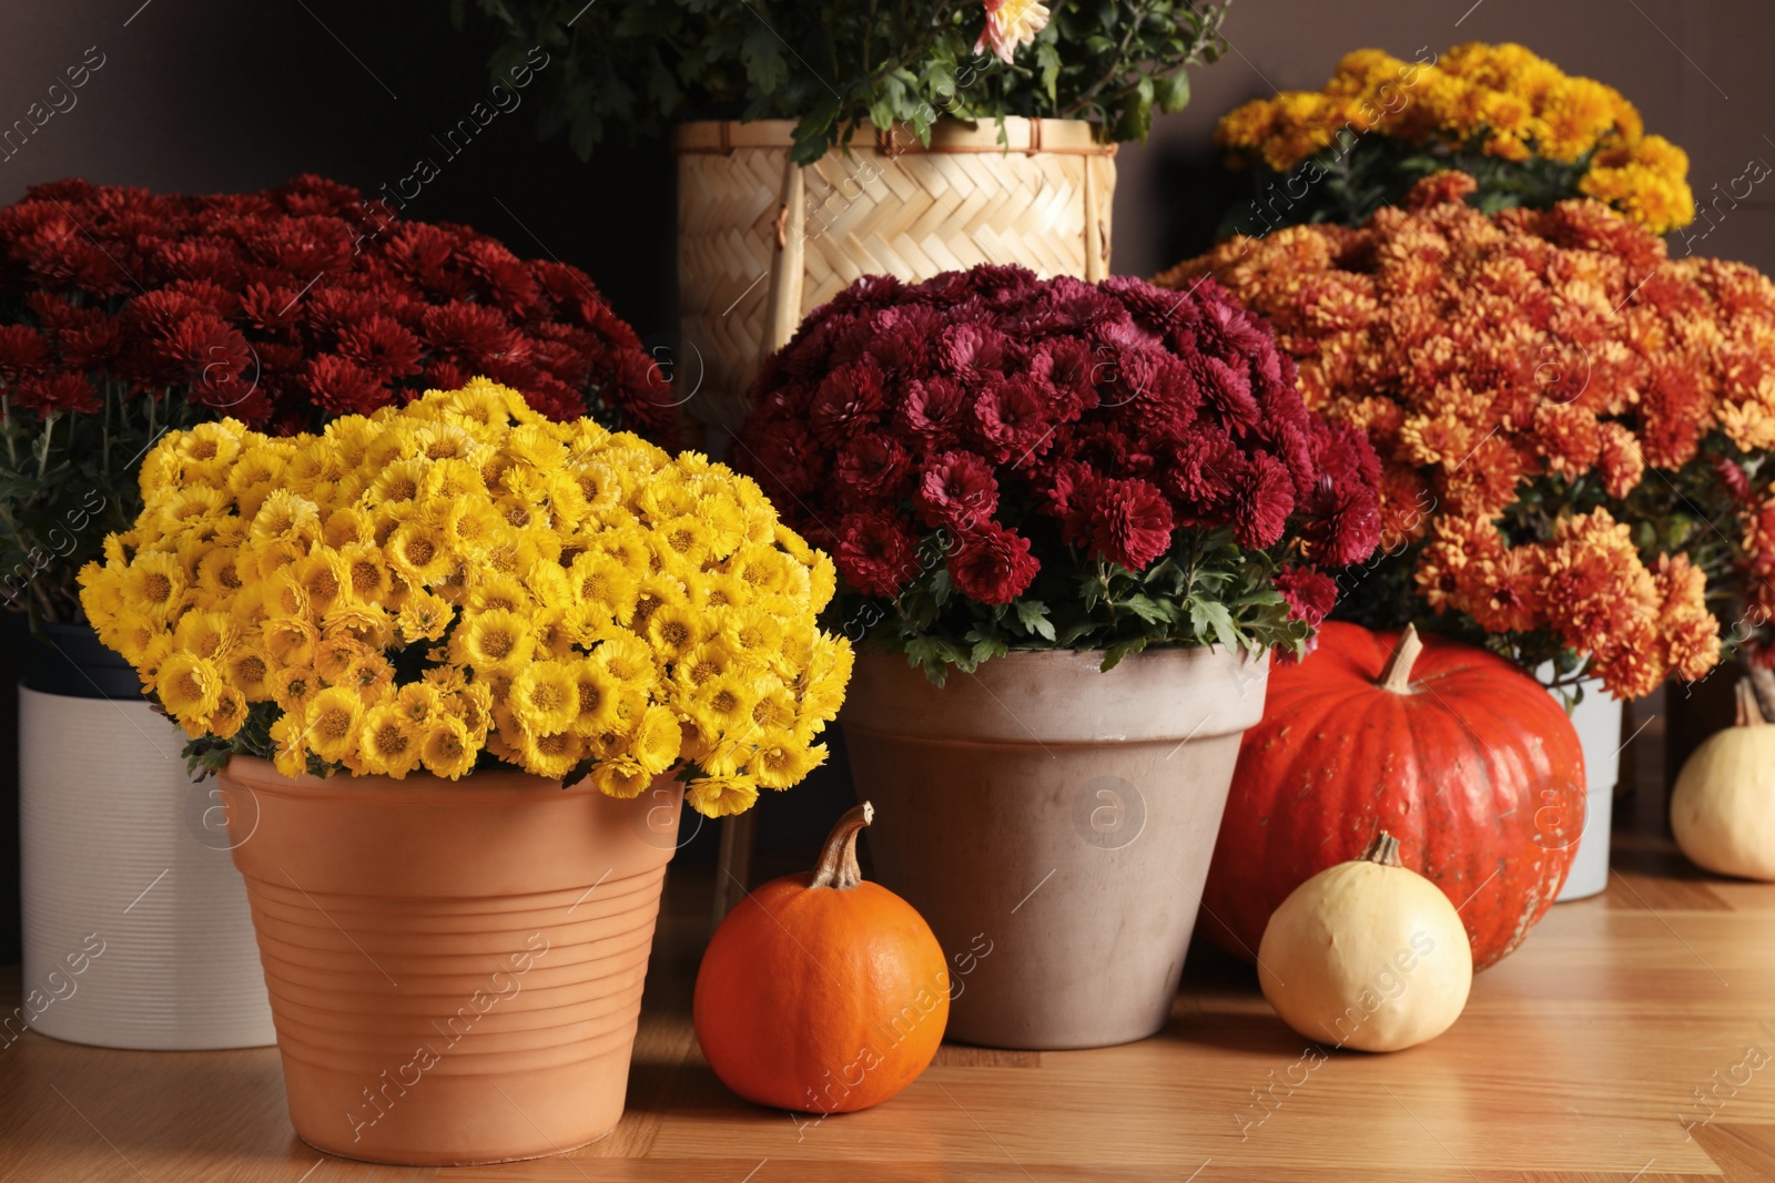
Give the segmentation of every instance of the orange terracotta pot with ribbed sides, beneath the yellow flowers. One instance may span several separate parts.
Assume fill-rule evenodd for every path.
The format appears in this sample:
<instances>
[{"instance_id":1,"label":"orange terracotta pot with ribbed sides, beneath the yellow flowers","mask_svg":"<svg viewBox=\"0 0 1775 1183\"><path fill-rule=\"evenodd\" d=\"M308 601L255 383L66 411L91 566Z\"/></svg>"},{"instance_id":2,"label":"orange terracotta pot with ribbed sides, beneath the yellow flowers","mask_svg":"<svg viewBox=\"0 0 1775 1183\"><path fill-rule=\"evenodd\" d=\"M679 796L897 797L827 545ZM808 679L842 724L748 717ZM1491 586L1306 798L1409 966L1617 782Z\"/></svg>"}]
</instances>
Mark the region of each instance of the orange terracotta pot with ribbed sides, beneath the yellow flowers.
<instances>
[{"instance_id":1,"label":"orange terracotta pot with ribbed sides, beneath the yellow flowers","mask_svg":"<svg viewBox=\"0 0 1775 1183\"><path fill-rule=\"evenodd\" d=\"M236 756L222 791L305 1142L465 1165L611 1132L678 784L291 780Z\"/></svg>"}]
</instances>

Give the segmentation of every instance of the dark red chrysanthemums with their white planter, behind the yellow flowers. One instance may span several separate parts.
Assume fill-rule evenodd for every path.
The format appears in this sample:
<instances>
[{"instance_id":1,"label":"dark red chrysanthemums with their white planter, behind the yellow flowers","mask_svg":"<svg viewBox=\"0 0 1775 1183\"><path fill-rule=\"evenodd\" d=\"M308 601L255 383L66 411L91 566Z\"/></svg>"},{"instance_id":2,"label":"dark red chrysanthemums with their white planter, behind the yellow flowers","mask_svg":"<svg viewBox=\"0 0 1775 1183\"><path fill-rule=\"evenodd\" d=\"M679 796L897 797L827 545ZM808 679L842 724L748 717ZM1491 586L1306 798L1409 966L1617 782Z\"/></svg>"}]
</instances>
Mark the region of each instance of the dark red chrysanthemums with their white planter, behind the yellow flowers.
<instances>
[{"instance_id":1,"label":"dark red chrysanthemums with their white planter, behind the yellow flowers","mask_svg":"<svg viewBox=\"0 0 1775 1183\"><path fill-rule=\"evenodd\" d=\"M23 676L27 979L110 924L119 896L169 867L185 883L110 933L110 970L82 984L85 1002L30 991L34 1029L133 1048L275 1038L222 812L94 637L75 580L142 513L149 449L222 417L320 429L474 374L554 419L662 440L671 426L660 372L582 271L344 184L186 195L67 179L0 209L0 630ZM225 443L185 438L192 459ZM188 509L224 493L193 488ZM11 768L0 786L9 809ZM202 993L172 968L199 944Z\"/></svg>"}]
</instances>

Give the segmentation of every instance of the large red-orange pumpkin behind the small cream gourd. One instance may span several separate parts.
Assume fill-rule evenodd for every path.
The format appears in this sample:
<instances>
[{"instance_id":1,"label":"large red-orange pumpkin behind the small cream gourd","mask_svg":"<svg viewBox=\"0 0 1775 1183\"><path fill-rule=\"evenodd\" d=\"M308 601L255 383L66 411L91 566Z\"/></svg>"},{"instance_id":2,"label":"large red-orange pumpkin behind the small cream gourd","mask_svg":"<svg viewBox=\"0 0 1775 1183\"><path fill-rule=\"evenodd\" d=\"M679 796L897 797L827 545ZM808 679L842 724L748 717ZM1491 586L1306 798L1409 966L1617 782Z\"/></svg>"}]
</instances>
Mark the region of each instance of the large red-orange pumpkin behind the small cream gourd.
<instances>
[{"instance_id":1,"label":"large red-orange pumpkin behind the small cream gourd","mask_svg":"<svg viewBox=\"0 0 1775 1183\"><path fill-rule=\"evenodd\" d=\"M1221 819L1203 931L1251 960L1269 913L1383 828L1459 908L1473 968L1516 949L1583 832L1583 750L1516 665L1416 630L1331 623L1269 674Z\"/></svg>"}]
</instances>

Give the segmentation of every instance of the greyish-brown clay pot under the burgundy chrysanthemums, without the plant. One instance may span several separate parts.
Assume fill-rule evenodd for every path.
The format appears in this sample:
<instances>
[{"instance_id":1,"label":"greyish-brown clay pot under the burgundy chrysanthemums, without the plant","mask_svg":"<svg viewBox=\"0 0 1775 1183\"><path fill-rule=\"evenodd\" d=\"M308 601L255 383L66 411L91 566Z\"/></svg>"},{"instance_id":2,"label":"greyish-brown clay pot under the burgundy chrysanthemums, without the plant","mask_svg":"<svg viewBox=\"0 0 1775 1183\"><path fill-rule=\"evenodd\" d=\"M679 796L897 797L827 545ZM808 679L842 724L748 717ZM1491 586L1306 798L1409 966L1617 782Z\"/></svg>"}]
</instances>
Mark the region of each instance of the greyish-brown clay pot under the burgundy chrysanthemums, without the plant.
<instances>
[{"instance_id":1,"label":"greyish-brown clay pot under the burgundy chrysanthemums, without the plant","mask_svg":"<svg viewBox=\"0 0 1775 1183\"><path fill-rule=\"evenodd\" d=\"M937 690L859 654L840 722L875 878L950 954L950 1038L1143 1039L1172 1009L1267 660L1012 653Z\"/></svg>"}]
</instances>

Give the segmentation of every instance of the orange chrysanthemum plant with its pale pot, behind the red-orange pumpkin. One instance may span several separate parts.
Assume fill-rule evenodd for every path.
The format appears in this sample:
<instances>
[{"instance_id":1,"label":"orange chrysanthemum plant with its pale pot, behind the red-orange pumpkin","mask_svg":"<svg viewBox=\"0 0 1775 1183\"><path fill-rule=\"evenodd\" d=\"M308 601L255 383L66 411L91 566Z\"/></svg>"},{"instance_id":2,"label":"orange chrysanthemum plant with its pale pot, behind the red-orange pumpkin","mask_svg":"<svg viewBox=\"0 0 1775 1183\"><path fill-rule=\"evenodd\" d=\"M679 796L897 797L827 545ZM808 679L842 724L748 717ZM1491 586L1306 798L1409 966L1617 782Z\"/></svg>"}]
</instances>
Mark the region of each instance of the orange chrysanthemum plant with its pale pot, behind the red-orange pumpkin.
<instances>
[{"instance_id":1,"label":"orange chrysanthemum plant with its pale pot, behind the red-orange pumpkin","mask_svg":"<svg viewBox=\"0 0 1775 1183\"><path fill-rule=\"evenodd\" d=\"M1384 555L1340 615L1484 644L1566 697L1574 899L1608 881L1617 701L1722 654L1775 665L1775 284L1596 200L1487 216L1475 192L1440 174L1361 227L1232 238L1157 282L1225 284L1369 433Z\"/></svg>"}]
</instances>

